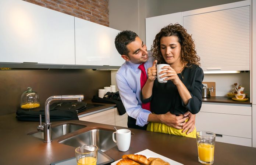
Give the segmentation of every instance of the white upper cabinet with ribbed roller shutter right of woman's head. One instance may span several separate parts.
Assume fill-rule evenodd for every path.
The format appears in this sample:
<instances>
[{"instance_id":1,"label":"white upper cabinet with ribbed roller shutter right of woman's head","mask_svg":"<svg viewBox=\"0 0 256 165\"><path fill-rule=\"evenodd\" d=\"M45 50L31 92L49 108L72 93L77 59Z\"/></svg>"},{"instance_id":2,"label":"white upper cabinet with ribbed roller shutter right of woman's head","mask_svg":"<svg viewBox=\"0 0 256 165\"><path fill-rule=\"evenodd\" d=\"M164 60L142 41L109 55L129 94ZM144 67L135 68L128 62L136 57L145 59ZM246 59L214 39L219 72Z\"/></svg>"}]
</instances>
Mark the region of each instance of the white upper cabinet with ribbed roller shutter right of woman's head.
<instances>
[{"instance_id":1,"label":"white upper cabinet with ribbed roller shutter right of woman's head","mask_svg":"<svg viewBox=\"0 0 256 165\"><path fill-rule=\"evenodd\" d=\"M250 70L250 1L183 12L204 71Z\"/></svg>"}]
</instances>

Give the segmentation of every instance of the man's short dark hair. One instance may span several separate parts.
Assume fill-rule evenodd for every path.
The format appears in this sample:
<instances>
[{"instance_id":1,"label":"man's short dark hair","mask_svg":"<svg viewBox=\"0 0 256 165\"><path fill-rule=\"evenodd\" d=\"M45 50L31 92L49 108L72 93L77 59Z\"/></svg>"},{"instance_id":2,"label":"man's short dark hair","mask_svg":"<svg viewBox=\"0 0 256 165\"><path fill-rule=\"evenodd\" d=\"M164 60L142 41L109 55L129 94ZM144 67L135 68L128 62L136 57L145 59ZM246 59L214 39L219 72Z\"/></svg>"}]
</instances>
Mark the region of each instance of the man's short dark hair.
<instances>
[{"instance_id":1,"label":"man's short dark hair","mask_svg":"<svg viewBox=\"0 0 256 165\"><path fill-rule=\"evenodd\" d=\"M115 37L115 48L117 49L118 53L128 56L129 51L126 45L135 41L136 37L138 37L138 35L130 30L119 32Z\"/></svg>"}]
</instances>

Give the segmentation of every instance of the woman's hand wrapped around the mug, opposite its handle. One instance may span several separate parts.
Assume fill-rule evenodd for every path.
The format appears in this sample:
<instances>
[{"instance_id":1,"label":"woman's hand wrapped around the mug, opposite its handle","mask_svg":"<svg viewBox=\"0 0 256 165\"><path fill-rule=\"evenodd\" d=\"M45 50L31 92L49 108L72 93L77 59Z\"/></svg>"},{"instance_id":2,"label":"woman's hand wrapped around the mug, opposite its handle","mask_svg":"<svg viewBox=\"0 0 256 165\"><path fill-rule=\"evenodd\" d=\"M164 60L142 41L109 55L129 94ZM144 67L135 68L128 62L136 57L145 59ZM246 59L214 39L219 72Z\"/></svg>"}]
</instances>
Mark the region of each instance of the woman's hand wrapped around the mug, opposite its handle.
<instances>
[{"instance_id":1,"label":"woman's hand wrapped around the mug, opposite its handle","mask_svg":"<svg viewBox=\"0 0 256 165\"><path fill-rule=\"evenodd\" d=\"M164 80L166 80L166 81L171 80L171 81L173 81L174 85L178 85L181 83L179 76L177 75L176 71L171 66L164 66L164 67L162 67L162 69L167 69L167 70L163 70L162 72L159 73L159 74L163 74L162 76L160 76L160 78L167 77ZM166 74L164 74L164 73L166 73Z\"/></svg>"}]
</instances>

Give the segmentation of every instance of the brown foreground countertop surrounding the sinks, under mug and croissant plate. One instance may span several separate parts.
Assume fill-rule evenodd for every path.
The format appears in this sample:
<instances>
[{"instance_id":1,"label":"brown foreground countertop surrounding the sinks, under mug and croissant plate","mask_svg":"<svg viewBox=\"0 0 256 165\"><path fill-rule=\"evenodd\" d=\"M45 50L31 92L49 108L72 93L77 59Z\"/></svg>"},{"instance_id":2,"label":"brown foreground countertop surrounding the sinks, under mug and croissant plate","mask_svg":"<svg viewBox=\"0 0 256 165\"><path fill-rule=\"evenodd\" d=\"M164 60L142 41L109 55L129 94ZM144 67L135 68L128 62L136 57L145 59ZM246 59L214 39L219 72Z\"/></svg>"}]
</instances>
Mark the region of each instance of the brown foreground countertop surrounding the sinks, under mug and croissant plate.
<instances>
[{"instance_id":1,"label":"brown foreground countertop surrounding the sinks, under mug and croissant plate","mask_svg":"<svg viewBox=\"0 0 256 165\"><path fill-rule=\"evenodd\" d=\"M86 125L86 127L53 139L51 143L43 143L42 139L27 135L27 133L36 130L39 122L18 121L15 114L1 115L0 164L49 165L51 162L75 157L75 147L60 144L58 141L95 128L108 129L114 132L112 125L79 120L54 121L52 126L61 123L76 123ZM122 127L117 126L117 129L120 128ZM115 146L104 153L116 161L124 154L149 149L184 165L199 165L196 139L139 129L130 130L134 135L131 138L131 146L128 151L118 151L117 146ZM255 164L256 148L216 142L214 155L214 164L216 165Z\"/></svg>"}]
</instances>

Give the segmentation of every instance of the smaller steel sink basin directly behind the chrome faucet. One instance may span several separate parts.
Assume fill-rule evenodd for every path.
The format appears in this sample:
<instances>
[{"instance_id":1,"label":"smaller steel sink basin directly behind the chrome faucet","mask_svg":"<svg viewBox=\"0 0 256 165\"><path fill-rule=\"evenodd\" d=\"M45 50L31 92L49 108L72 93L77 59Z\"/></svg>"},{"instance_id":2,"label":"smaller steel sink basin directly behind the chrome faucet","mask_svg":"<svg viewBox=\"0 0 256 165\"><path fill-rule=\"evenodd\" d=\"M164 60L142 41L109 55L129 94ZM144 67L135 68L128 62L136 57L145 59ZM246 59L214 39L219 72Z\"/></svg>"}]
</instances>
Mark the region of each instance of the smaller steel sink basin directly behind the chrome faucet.
<instances>
[{"instance_id":1,"label":"smaller steel sink basin directly behind the chrome faucet","mask_svg":"<svg viewBox=\"0 0 256 165\"><path fill-rule=\"evenodd\" d=\"M67 133L71 133L71 132L77 131L78 129L82 129L85 127L86 126L83 126L83 125L66 123L63 125L52 127L51 128L51 136L54 139L56 137L66 135ZM28 135L43 139L43 132L28 133Z\"/></svg>"}]
</instances>

